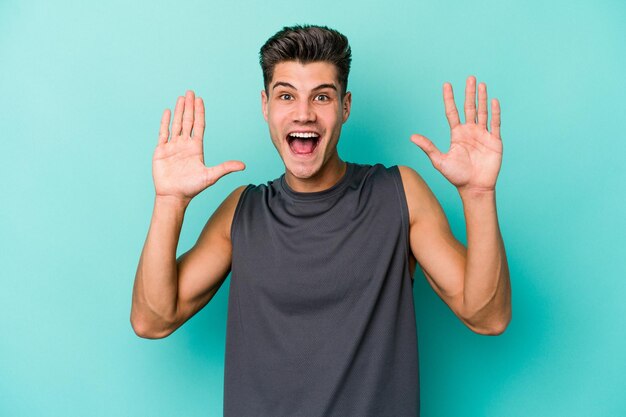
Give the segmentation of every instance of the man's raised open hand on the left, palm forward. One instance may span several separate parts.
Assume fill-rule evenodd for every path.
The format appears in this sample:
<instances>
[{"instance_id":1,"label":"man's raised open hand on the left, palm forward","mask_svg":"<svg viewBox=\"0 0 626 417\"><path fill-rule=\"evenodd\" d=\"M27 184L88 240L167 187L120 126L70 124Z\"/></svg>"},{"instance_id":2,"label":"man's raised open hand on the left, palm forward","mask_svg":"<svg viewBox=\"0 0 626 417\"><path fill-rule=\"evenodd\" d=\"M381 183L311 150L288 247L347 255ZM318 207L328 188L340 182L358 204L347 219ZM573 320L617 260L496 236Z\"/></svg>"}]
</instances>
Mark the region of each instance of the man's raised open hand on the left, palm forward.
<instances>
[{"instance_id":1,"label":"man's raised open hand on the left, palm forward","mask_svg":"<svg viewBox=\"0 0 626 417\"><path fill-rule=\"evenodd\" d=\"M171 136L170 116L169 109L163 112L158 145L152 157L157 197L173 197L189 203L224 175L245 168L240 161L227 161L214 167L204 165L204 103L193 91L178 97Z\"/></svg>"}]
</instances>

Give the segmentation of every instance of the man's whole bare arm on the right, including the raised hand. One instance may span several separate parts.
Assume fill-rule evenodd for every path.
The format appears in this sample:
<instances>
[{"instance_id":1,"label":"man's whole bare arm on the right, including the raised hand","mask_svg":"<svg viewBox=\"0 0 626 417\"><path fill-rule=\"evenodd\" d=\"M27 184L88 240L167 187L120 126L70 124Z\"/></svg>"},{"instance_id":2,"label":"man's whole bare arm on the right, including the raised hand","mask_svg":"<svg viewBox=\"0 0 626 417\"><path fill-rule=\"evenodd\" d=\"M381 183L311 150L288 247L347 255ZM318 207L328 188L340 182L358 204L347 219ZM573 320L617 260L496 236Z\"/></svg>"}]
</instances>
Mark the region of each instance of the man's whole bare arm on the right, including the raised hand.
<instances>
[{"instance_id":1,"label":"man's whole bare arm on the right, including the raised hand","mask_svg":"<svg viewBox=\"0 0 626 417\"><path fill-rule=\"evenodd\" d=\"M495 186L502 164L500 104L491 101L487 129L487 86L467 78L465 123L461 123L452 86L443 98L450 125L450 149L442 153L426 137L411 141L458 190L465 215L467 247L454 238L441 206L410 168L401 167L410 213L410 245L424 275L442 300L471 330L498 335L511 321L511 284L498 226Z\"/></svg>"}]
</instances>

